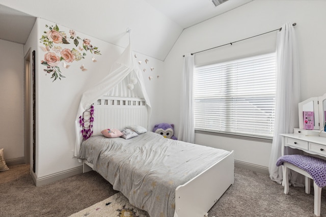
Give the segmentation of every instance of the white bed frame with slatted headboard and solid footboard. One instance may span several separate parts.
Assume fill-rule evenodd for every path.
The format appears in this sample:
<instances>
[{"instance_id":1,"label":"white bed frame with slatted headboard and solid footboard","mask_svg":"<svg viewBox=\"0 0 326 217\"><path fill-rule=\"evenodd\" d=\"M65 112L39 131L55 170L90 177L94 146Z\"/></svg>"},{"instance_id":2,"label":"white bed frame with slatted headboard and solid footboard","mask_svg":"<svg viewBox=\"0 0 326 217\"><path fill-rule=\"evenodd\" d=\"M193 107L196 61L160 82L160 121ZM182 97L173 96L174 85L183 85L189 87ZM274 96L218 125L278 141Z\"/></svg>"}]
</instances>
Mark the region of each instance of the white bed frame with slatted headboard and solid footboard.
<instances>
[{"instance_id":1,"label":"white bed frame with slatted headboard and solid footboard","mask_svg":"<svg viewBox=\"0 0 326 217\"><path fill-rule=\"evenodd\" d=\"M128 125L147 126L147 106L141 98L103 96L94 104L93 134L107 128L123 129ZM149 130L149 129L148 129ZM83 161L83 172L93 165ZM219 162L179 185L175 190L174 217L207 216L208 210L234 183L234 152Z\"/></svg>"}]
</instances>

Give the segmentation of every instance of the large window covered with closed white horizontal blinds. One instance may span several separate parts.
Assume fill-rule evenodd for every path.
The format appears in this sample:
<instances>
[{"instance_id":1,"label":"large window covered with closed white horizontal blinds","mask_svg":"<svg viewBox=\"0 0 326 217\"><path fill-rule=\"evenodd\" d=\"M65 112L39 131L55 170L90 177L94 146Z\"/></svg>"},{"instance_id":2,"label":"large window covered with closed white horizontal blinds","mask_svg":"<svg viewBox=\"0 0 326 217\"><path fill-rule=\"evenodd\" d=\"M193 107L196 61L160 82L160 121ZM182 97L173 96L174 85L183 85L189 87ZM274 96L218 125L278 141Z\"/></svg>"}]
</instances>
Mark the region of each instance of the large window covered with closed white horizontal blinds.
<instances>
[{"instance_id":1,"label":"large window covered with closed white horizontal blinds","mask_svg":"<svg viewBox=\"0 0 326 217\"><path fill-rule=\"evenodd\" d=\"M273 137L276 53L196 67L195 130Z\"/></svg>"}]
</instances>

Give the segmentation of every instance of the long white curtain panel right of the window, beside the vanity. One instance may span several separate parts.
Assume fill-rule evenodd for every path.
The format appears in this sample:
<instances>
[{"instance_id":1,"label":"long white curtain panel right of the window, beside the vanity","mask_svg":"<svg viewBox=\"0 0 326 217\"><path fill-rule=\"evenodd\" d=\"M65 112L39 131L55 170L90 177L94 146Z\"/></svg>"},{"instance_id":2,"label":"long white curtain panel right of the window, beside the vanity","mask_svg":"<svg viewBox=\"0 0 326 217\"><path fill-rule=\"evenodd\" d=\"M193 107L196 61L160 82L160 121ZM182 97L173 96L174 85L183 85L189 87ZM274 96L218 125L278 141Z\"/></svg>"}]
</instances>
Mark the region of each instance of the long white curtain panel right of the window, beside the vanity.
<instances>
[{"instance_id":1,"label":"long white curtain panel right of the window, beside the vanity","mask_svg":"<svg viewBox=\"0 0 326 217\"><path fill-rule=\"evenodd\" d=\"M281 157L282 141L280 134L293 133L298 127L298 103L300 101L300 73L295 30L292 23L282 26L277 35L277 84L274 138L269 159L269 177L282 183L282 167L276 166ZM298 150L287 148L284 154L298 153ZM291 183L303 187L303 177L291 173Z\"/></svg>"}]
</instances>

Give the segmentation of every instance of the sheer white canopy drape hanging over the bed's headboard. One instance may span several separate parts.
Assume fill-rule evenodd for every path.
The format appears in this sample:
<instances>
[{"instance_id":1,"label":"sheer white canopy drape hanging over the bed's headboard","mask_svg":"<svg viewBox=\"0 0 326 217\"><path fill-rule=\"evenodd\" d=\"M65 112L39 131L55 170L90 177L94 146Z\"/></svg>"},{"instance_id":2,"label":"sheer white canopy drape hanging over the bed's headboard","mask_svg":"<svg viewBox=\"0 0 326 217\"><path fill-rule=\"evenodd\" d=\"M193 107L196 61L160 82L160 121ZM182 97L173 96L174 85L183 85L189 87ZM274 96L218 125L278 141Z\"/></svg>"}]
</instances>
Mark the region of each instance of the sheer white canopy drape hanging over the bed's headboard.
<instances>
[{"instance_id":1,"label":"sheer white canopy drape hanging over the bed's headboard","mask_svg":"<svg viewBox=\"0 0 326 217\"><path fill-rule=\"evenodd\" d=\"M130 91L130 89L128 89L127 87L127 84L130 83L129 80L132 77L136 78L138 81L137 84L134 84L134 90L132 95L137 95L134 97L145 99L147 105L147 111L148 111L147 128L149 127L151 105L145 89L145 83L144 83L141 70L139 68L139 64L135 61L133 57L131 45L129 44L128 47L125 49L125 51L118 58L118 60L115 61L108 75L105 78L103 78L103 80L99 82L97 85L85 91L84 94L82 95L82 98L80 99L78 112L75 120L75 134L76 134L75 150L74 150L75 157L77 157L80 144L82 144L83 142L83 136L80 133L82 129L80 128L79 116L83 115L83 112L86 109L89 109L93 103L97 102L99 97L107 95L108 92L110 92L110 94L114 93L114 95L111 96L119 96L119 97L125 96L126 91Z\"/></svg>"}]
</instances>

